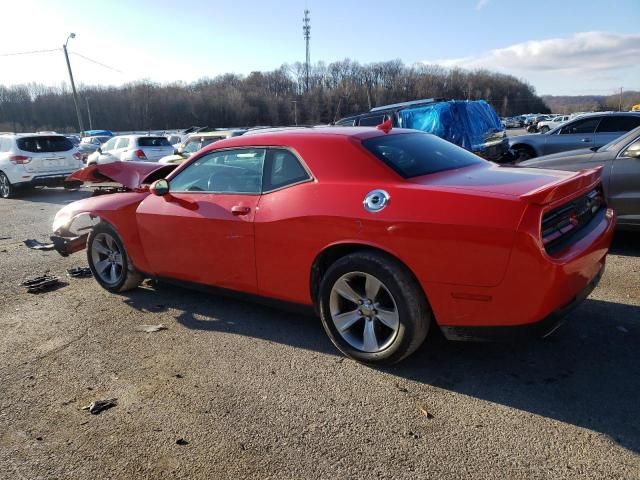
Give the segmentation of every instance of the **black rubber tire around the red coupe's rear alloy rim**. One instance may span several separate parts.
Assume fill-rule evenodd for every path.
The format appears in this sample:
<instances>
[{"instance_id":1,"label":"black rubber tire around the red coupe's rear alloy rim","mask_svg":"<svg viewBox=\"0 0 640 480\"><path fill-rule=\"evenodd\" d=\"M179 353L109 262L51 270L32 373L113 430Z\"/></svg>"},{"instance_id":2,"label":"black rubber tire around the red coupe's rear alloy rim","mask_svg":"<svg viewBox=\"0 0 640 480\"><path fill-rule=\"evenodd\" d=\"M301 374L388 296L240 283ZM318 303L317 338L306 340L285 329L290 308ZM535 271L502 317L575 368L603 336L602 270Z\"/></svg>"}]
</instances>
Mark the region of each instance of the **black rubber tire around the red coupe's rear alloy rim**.
<instances>
[{"instance_id":1,"label":"black rubber tire around the red coupe's rear alloy rim","mask_svg":"<svg viewBox=\"0 0 640 480\"><path fill-rule=\"evenodd\" d=\"M345 335L338 331L335 324L334 316L332 315L332 306L334 309L336 308L336 296L339 302L349 304L349 306L345 307L347 310L350 310L351 304L353 304L356 308L355 311L357 311L358 314L361 313L360 309L362 307L359 307L355 302L347 300L346 297L337 294L336 290L334 290L337 282L348 278L349 275L369 275L375 277L384 287L384 291L382 287L380 290L383 292L382 295L385 297L390 295L393 307L396 308L398 318L397 330L390 335L389 340L387 340L378 351L364 351L363 349L356 348L353 345L354 342L348 341ZM357 280L357 277L354 278ZM350 284L353 290L358 293L364 293L364 285L360 284L358 286L354 282L355 280ZM334 295L333 303L332 292ZM374 303L373 314L377 313L375 308L382 309L382 307L379 307L379 304L384 300L380 299L380 297L376 298L379 299L379 303ZM424 341L431 324L431 309L429 308L422 288L411 272L393 257L372 250L352 253L333 263L322 278L318 299L322 325L333 344L346 356L368 365L391 365L411 355ZM375 298L372 301L375 302ZM386 301L388 302L388 299ZM364 332L366 332L367 321L371 322L371 328L377 329L377 332L381 330L384 330L383 333L387 330L391 331L382 320L372 315L371 317L362 317L355 321L355 323L352 323L352 326L347 329L347 334L351 335L352 329L355 330L353 336L357 335L357 332L362 331L364 342ZM360 328L360 326L362 326L362 328ZM343 329L343 332L345 332L345 329ZM376 346L377 345L378 343L376 343Z\"/></svg>"}]
</instances>

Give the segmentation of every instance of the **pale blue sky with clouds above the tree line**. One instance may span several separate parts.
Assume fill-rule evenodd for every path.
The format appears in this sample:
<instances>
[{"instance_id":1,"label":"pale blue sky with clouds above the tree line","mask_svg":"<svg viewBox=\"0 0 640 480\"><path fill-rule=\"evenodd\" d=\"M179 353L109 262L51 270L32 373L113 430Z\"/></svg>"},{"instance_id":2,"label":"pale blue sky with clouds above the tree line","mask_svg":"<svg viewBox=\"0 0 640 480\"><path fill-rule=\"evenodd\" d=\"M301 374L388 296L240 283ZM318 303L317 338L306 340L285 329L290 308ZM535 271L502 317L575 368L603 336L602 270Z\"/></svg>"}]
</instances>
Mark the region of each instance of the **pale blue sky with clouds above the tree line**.
<instances>
[{"instance_id":1,"label":"pale blue sky with clouds above the tree line","mask_svg":"<svg viewBox=\"0 0 640 480\"><path fill-rule=\"evenodd\" d=\"M538 94L640 90L640 0L7 1L0 85L68 82L61 47L70 32L80 85L273 70L304 61L305 8L312 63L487 68ZM11 55L40 50L54 51Z\"/></svg>"}]
</instances>

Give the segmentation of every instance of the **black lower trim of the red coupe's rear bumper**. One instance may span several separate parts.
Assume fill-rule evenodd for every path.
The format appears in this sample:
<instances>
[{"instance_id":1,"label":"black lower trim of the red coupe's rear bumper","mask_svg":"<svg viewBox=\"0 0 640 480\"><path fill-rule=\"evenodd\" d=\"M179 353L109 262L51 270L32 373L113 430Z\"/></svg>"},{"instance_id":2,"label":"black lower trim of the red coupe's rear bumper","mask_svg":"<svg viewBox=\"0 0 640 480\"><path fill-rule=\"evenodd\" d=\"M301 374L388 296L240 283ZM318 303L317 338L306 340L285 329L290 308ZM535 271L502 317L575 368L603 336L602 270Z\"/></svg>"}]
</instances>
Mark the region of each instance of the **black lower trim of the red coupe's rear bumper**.
<instances>
[{"instance_id":1,"label":"black lower trim of the red coupe's rear bumper","mask_svg":"<svg viewBox=\"0 0 640 480\"><path fill-rule=\"evenodd\" d=\"M560 327L573 312L598 286L604 266L596 276L563 307L554 310L542 320L525 325L477 327L477 326L440 326L447 340L492 342L513 341L527 338L546 337Z\"/></svg>"}]
</instances>

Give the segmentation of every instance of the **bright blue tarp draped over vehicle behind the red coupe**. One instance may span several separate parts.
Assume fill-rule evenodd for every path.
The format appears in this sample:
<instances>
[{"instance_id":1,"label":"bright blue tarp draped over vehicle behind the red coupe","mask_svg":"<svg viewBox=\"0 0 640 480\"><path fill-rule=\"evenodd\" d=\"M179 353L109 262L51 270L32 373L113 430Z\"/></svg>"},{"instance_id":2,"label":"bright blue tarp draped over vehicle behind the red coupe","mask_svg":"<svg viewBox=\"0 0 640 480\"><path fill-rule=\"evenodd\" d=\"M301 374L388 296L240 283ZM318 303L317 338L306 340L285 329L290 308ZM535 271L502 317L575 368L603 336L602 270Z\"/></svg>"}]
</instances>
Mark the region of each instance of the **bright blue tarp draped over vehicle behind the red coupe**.
<instances>
[{"instance_id":1,"label":"bright blue tarp draped over vehicle behind the red coupe","mask_svg":"<svg viewBox=\"0 0 640 480\"><path fill-rule=\"evenodd\" d=\"M450 100L405 108L398 123L433 133L472 152L484 151L491 140L504 137L504 126L495 110L484 100Z\"/></svg>"}]
</instances>

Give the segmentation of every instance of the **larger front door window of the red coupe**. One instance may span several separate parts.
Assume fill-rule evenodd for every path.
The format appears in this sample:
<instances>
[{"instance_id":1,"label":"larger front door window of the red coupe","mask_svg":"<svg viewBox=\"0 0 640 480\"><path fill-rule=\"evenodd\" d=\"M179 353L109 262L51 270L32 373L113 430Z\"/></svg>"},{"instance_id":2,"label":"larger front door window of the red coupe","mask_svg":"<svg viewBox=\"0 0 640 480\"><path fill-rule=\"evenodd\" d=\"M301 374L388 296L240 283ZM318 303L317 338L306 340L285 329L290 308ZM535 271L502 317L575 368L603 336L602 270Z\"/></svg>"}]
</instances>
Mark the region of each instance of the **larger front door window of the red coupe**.
<instances>
[{"instance_id":1,"label":"larger front door window of the red coupe","mask_svg":"<svg viewBox=\"0 0 640 480\"><path fill-rule=\"evenodd\" d=\"M172 178L171 191L260 193L265 155L264 148L211 152L198 158Z\"/></svg>"}]
</instances>

